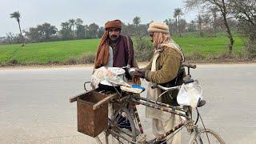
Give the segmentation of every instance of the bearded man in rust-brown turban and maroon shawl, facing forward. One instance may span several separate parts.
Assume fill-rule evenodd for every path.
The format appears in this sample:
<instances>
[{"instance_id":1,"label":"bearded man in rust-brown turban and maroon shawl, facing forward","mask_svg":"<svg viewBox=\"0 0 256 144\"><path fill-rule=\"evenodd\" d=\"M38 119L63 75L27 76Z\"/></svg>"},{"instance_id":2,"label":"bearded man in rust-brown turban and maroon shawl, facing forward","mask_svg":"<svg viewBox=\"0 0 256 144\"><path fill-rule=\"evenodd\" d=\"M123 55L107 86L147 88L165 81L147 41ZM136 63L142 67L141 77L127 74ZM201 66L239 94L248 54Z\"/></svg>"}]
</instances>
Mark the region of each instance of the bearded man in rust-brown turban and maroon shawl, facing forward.
<instances>
[{"instance_id":1,"label":"bearded man in rust-brown turban and maroon shawl, facing forward","mask_svg":"<svg viewBox=\"0 0 256 144\"><path fill-rule=\"evenodd\" d=\"M106 22L105 32L98 46L94 68L101 66L134 66L134 48L130 37L122 35L122 22L114 20Z\"/></svg>"}]
</instances>

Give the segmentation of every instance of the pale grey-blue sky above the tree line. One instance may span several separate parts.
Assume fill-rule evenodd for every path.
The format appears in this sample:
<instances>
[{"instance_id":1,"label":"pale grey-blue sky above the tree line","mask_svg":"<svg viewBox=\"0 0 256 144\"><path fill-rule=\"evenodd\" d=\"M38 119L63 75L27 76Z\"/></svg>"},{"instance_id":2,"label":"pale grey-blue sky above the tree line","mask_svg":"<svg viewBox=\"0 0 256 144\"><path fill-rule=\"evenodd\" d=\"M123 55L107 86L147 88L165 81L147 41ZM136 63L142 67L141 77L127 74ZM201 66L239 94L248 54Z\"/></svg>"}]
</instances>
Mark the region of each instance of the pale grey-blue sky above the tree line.
<instances>
[{"instance_id":1,"label":"pale grey-blue sky above the tree line","mask_svg":"<svg viewBox=\"0 0 256 144\"><path fill-rule=\"evenodd\" d=\"M196 17L196 12L185 9L183 0L0 0L0 37L19 32L18 22L10 18L14 11L21 14L22 30L28 30L44 22L59 29L70 18L99 26L113 19L131 23L136 16L142 23L163 22L173 18L175 8L182 9L186 21Z\"/></svg>"}]
</instances>

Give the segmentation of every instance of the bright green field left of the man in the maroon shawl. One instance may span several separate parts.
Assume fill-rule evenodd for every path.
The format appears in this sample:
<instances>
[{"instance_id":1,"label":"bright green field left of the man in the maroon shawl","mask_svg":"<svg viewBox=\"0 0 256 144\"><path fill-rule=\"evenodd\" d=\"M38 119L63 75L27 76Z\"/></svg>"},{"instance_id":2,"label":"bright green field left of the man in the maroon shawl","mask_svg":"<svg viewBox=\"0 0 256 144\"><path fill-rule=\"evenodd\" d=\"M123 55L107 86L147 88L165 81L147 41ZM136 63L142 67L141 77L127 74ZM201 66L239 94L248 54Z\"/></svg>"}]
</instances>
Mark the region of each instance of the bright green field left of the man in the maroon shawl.
<instances>
[{"instance_id":1,"label":"bright green field left of the man in the maroon shawl","mask_svg":"<svg viewBox=\"0 0 256 144\"><path fill-rule=\"evenodd\" d=\"M6 64L12 59L20 63L65 62L69 58L94 53L99 39L83 39L59 42L39 42L21 45L0 46L0 63Z\"/></svg>"}]
</instances>

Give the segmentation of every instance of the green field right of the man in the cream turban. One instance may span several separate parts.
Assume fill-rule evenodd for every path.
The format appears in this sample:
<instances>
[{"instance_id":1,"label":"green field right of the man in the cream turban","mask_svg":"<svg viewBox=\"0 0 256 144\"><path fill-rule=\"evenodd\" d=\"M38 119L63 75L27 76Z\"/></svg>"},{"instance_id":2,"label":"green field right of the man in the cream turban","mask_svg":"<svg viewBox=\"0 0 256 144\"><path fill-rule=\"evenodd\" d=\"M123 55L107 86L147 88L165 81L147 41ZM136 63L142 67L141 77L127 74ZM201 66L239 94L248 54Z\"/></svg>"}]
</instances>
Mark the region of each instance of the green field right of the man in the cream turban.
<instances>
[{"instance_id":1,"label":"green field right of the man in the cream turban","mask_svg":"<svg viewBox=\"0 0 256 144\"><path fill-rule=\"evenodd\" d=\"M242 49L242 46L245 39L240 38L238 32L236 31L232 31L232 34L234 37L233 54L235 56L244 54L245 52ZM198 33L192 32L182 34L182 38L174 36L174 41L182 47L185 54L193 54L194 52L198 52L205 57L209 57L227 52L230 39L226 37L226 33L218 32L214 35L215 36L212 37L212 34L204 33L204 37L199 38Z\"/></svg>"}]
</instances>

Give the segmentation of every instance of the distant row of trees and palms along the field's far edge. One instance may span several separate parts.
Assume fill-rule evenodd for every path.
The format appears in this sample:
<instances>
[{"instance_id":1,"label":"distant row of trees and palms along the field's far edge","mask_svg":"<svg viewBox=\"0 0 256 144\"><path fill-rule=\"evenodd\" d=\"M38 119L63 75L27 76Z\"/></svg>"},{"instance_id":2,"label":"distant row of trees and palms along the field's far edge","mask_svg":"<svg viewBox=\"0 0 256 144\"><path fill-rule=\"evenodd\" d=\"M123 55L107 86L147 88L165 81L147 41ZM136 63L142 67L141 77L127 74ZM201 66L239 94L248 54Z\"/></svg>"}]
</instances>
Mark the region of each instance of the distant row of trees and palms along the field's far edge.
<instances>
[{"instance_id":1,"label":"distant row of trees and palms along the field's far edge","mask_svg":"<svg viewBox=\"0 0 256 144\"><path fill-rule=\"evenodd\" d=\"M214 34L218 30L223 30L221 19L215 20L216 24L211 26L209 14L198 15L198 18L191 22L186 22L186 19L182 18L182 14L182 10L177 8L174 10L174 18L168 18L163 21L170 27L170 34L182 37L182 34L186 32L200 31L200 33L198 32L198 37L203 37L203 34L209 31ZM237 22L234 20L230 20L230 22L233 23L232 28L236 29ZM137 16L133 18L131 23L122 23L122 34L132 37L146 36L149 23L143 24L141 18ZM18 24L18 26L20 25ZM20 34L8 33L5 38L2 38L1 42L7 44L21 43L23 38L25 42L101 38L105 30L103 26L98 26L96 23L84 25L81 18L70 18L66 22L62 22L60 26L61 28L58 30L57 26L52 26L50 23L45 22L41 25L30 27L28 30L20 30Z\"/></svg>"}]
</instances>

